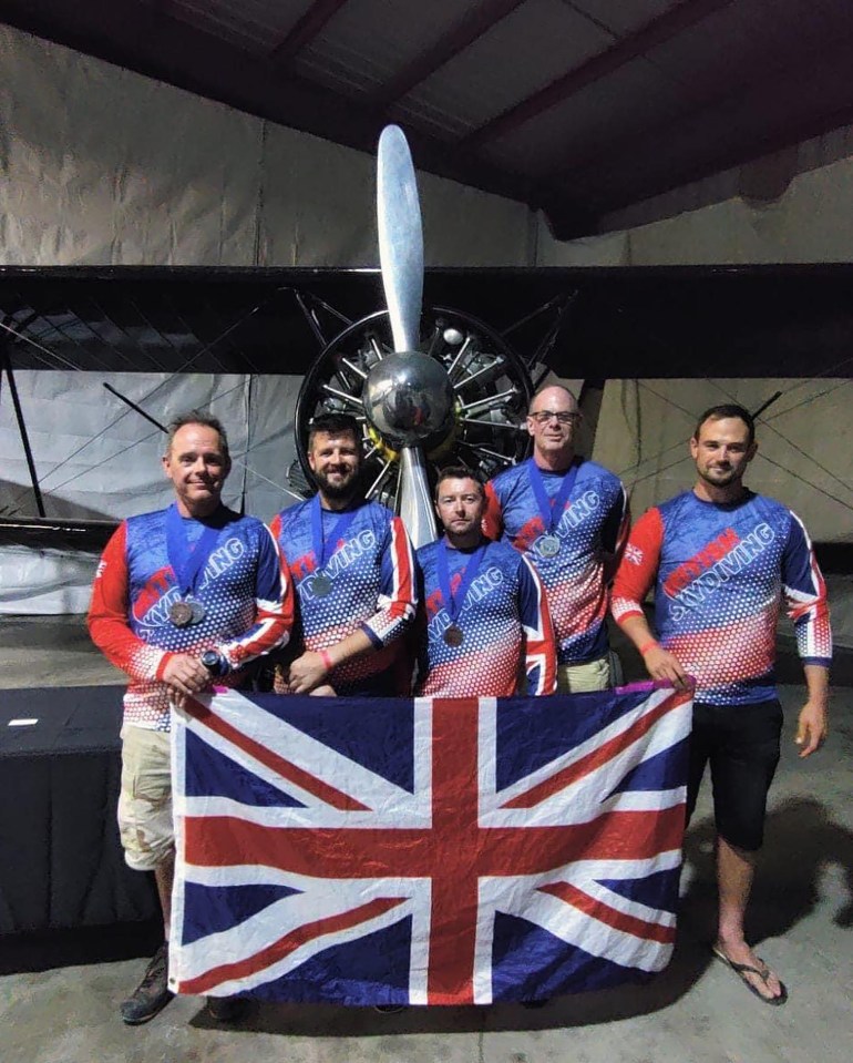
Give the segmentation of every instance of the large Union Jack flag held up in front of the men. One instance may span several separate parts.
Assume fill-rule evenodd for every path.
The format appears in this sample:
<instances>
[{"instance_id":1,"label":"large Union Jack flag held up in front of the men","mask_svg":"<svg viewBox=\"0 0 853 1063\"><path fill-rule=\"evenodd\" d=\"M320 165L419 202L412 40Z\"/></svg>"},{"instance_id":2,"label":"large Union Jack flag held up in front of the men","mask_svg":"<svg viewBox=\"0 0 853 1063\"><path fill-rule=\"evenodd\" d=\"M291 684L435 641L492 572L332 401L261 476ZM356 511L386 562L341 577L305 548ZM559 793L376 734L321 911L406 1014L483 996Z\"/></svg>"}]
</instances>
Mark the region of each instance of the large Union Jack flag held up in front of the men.
<instances>
[{"instance_id":1,"label":"large Union Jack flag held up in front of the men","mask_svg":"<svg viewBox=\"0 0 853 1063\"><path fill-rule=\"evenodd\" d=\"M487 1004L662 970L690 716L689 694L651 683L188 702L172 988Z\"/></svg>"}]
</instances>

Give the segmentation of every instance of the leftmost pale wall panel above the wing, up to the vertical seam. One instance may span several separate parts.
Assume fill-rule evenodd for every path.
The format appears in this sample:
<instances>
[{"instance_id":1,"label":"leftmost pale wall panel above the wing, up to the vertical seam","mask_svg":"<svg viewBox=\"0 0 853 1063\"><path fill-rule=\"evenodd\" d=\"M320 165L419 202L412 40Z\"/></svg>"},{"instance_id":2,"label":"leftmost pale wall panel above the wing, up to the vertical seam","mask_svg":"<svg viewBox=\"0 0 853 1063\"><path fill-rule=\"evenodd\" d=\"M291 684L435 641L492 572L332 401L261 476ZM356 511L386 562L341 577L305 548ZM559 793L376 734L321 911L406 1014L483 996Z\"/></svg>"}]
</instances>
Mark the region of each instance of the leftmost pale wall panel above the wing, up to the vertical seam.
<instances>
[{"instance_id":1,"label":"leftmost pale wall panel above the wing, up to the vertical seam","mask_svg":"<svg viewBox=\"0 0 853 1063\"><path fill-rule=\"evenodd\" d=\"M261 123L0 25L0 259L250 265Z\"/></svg>"}]
</instances>

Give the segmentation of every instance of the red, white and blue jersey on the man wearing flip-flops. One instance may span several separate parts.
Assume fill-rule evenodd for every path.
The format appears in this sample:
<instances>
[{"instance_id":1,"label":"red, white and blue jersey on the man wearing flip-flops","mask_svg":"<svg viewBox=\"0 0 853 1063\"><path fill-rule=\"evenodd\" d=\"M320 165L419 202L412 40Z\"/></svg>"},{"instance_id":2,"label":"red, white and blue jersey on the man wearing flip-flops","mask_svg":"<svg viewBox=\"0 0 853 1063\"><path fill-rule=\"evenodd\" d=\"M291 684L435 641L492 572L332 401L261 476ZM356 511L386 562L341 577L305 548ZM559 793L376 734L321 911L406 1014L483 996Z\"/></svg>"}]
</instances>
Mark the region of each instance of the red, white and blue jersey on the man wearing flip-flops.
<instances>
[{"instance_id":1,"label":"red, white and blue jersey on the man wearing flip-flops","mask_svg":"<svg viewBox=\"0 0 853 1063\"><path fill-rule=\"evenodd\" d=\"M686 491L648 510L625 549L613 615L641 615L655 585L662 646L697 681L696 699L744 705L775 696L775 634L784 605L804 664L829 666L826 589L800 519L747 493L717 504Z\"/></svg>"}]
</instances>

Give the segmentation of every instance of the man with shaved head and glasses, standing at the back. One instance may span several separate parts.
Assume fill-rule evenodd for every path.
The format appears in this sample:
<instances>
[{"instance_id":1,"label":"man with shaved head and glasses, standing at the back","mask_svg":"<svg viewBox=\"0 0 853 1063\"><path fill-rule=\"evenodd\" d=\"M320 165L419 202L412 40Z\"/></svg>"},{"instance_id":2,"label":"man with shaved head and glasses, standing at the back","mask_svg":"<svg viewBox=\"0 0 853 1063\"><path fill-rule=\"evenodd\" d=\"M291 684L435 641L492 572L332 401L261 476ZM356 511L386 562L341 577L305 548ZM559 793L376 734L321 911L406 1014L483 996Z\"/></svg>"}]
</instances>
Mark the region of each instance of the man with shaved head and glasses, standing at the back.
<instances>
[{"instance_id":1,"label":"man with shaved head and glasses, standing at the back","mask_svg":"<svg viewBox=\"0 0 853 1063\"><path fill-rule=\"evenodd\" d=\"M487 487L483 521L533 563L548 596L564 693L610 685L607 585L628 531L618 477L575 453L580 410L558 385L534 395L527 413L533 457Z\"/></svg>"}]
</instances>

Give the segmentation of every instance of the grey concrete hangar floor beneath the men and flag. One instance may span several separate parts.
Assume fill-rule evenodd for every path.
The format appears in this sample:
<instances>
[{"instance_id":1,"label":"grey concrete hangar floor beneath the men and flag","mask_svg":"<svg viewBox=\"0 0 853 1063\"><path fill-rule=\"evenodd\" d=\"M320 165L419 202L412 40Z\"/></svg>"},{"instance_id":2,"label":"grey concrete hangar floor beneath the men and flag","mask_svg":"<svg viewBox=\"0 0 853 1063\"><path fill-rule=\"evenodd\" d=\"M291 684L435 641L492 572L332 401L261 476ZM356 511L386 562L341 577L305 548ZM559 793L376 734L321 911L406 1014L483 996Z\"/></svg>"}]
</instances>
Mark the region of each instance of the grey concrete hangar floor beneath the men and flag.
<instances>
[{"instance_id":1,"label":"grey concrete hangar floor beneath the men and flag","mask_svg":"<svg viewBox=\"0 0 853 1063\"><path fill-rule=\"evenodd\" d=\"M3 686L115 683L79 621L2 621ZM145 961L92 962L0 977L0 1063L849 1063L853 1056L853 691L833 702L826 747L799 762L800 689L782 688L788 726L771 794L751 937L788 983L774 1009L752 996L707 942L715 891L707 795L686 840L679 940L669 969L641 988L517 1005L372 1010L265 1005L217 1029L197 999L175 1000L145 1026L119 1002ZM0 939L0 950L3 948Z\"/></svg>"}]
</instances>

